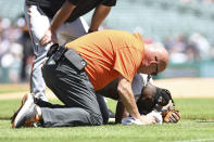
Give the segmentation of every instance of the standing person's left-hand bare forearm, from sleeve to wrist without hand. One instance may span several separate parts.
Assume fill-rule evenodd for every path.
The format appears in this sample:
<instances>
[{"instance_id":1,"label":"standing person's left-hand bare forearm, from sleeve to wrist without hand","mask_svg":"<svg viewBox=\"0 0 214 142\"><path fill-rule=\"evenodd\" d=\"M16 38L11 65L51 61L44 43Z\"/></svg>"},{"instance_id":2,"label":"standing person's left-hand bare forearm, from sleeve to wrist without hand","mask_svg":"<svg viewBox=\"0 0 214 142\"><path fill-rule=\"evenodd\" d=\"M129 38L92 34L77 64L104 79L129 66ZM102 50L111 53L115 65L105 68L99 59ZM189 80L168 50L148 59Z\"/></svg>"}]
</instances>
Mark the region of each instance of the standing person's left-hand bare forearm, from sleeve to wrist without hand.
<instances>
[{"instance_id":1,"label":"standing person's left-hand bare forearm, from sleeve to wrist without hand","mask_svg":"<svg viewBox=\"0 0 214 142\"><path fill-rule=\"evenodd\" d=\"M62 8L58 11L58 13L54 15L51 25L50 30L56 31L59 27L70 17L71 13L75 9L76 5L70 3L68 1L65 1L65 3L62 5Z\"/></svg>"}]
</instances>

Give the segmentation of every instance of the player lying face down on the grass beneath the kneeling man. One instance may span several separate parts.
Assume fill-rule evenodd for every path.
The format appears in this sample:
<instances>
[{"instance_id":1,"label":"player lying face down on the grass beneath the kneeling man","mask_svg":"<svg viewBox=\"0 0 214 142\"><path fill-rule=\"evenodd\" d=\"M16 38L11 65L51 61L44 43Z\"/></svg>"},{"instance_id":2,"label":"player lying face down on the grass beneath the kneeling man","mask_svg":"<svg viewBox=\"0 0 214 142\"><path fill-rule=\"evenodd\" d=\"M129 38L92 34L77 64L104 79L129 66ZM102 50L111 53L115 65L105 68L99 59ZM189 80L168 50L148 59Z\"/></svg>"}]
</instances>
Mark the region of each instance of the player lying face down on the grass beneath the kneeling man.
<instances>
[{"instance_id":1,"label":"player lying face down on the grass beneath the kneeling man","mask_svg":"<svg viewBox=\"0 0 214 142\"><path fill-rule=\"evenodd\" d=\"M104 89L97 91L97 93L113 100L118 100L115 122L122 122L122 119L128 117L129 114L119 100L118 92L116 90L117 82L117 79L112 81ZM147 115L152 111L155 111L161 113L163 121L165 122L179 121L180 114L179 111L175 109L175 104L171 96L171 92L166 89L155 87L151 76L146 74L136 74L131 88L139 113L141 115Z\"/></svg>"}]
</instances>

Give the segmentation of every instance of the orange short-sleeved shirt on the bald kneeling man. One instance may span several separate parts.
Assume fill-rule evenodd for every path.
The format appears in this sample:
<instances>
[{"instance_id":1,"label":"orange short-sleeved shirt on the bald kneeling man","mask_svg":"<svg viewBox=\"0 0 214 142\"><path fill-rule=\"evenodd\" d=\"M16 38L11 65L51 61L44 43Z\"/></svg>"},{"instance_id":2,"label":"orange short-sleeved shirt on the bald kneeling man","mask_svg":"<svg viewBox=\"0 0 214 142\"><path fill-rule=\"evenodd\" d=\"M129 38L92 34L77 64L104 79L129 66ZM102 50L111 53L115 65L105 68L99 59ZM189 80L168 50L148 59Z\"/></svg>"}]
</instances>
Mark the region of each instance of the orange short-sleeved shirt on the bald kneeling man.
<instances>
[{"instance_id":1,"label":"orange short-sleeved shirt on the bald kneeling man","mask_svg":"<svg viewBox=\"0 0 214 142\"><path fill-rule=\"evenodd\" d=\"M65 47L73 48L85 59L85 72L96 91L119 75L131 82L144 57L141 36L119 30L88 34Z\"/></svg>"}]
</instances>

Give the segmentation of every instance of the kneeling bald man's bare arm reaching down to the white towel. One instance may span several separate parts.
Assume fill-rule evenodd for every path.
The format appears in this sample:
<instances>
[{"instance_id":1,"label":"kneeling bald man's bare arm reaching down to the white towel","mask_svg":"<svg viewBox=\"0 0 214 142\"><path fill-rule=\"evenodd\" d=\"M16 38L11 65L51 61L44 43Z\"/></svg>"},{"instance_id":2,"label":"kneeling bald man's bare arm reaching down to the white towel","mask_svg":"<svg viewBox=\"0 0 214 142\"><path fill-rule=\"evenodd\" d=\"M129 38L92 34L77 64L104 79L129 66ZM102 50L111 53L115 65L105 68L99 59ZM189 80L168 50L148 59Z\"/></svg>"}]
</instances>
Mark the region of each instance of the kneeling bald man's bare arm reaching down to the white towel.
<instances>
[{"instance_id":1,"label":"kneeling bald man's bare arm reaching down to the white towel","mask_svg":"<svg viewBox=\"0 0 214 142\"><path fill-rule=\"evenodd\" d=\"M130 116L134 119L139 119L142 125L155 122L154 118L146 119L146 118L140 117L140 114L138 112L137 104L135 102L135 98L133 94L131 83L123 76L118 78L117 91L118 91L118 95L125 108L127 109L127 112L130 114Z\"/></svg>"}]
</instances>

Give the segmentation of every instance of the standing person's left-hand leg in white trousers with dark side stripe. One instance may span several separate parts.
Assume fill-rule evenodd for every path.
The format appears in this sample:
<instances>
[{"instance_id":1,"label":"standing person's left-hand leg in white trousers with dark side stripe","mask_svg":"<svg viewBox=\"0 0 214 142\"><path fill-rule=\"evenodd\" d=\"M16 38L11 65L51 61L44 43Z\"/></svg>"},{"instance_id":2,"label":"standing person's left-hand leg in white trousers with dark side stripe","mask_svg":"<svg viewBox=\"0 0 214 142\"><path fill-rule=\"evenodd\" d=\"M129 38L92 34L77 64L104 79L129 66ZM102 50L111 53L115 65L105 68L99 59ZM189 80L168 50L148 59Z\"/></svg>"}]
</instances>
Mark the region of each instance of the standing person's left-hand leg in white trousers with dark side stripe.
<instances>
[{"instance_id":1,"label":"standing person's left-hand leg in white trousers with dark side stripe","mask_svg":"<svg viewBox=\"0 0 214 142\"><path fill-rule=\"evenodd\" d=\"M30 74L30 92L34 93L36 98L48 101L45 95L46 83L41 75L41 66L43 61L47 60L46 54L50 46L41 47L39 39L41 39L48 29L50 20L45 16L36 5L25 5L25 17L35 53Z\"/></svg>"}]
</instances>

